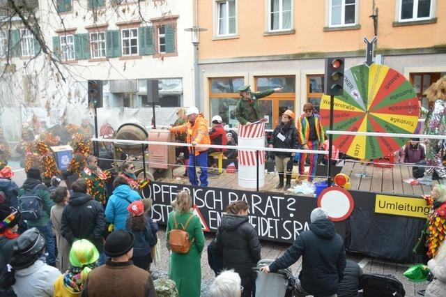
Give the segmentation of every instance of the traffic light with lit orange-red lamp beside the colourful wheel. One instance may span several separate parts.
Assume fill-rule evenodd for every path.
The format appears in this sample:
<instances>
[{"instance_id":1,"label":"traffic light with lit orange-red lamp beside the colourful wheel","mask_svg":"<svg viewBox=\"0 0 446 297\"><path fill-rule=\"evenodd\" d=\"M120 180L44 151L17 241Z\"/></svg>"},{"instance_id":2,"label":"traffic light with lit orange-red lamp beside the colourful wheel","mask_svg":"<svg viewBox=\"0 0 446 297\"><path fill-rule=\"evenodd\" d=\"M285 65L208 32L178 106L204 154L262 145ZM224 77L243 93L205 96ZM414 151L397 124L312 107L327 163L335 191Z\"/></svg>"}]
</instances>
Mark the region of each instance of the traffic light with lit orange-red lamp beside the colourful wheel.
<instances>
[{"instance_id":1,"label":"traffic light with lit orange-red lamp beside the colourful wheel","mask_svg":"<svg viewBox=\"0 0 446 297\"><path fill-rule=\"evenodd\" d=\"M344 91L344 58L325 59L325 95L342 95Z\"/></svg>"}]
</instances>

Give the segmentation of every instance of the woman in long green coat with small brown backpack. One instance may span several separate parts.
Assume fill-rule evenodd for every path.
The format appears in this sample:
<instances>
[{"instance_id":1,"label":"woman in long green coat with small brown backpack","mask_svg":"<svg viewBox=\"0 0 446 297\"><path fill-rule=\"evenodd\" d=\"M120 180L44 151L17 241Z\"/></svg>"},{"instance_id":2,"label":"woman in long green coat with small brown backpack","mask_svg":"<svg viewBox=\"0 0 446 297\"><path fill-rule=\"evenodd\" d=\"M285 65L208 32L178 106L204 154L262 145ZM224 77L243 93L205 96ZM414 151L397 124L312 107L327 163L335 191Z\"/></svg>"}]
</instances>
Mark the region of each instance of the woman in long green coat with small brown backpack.
<instances>
[{"instance_id":1,"label":"woman in long green coat with small brown backpack","mask_svg":"<svg viewBox=\"0 0 446 297\"><path fill-rule=\"evenodd\" d=\"M183 190L172 201L167 219L167 248L171 251L169 277L180 296L198 297L201 287L201 252L204 234L200 219L192 213L192 198Z\"/></svg>"}]
</instances>

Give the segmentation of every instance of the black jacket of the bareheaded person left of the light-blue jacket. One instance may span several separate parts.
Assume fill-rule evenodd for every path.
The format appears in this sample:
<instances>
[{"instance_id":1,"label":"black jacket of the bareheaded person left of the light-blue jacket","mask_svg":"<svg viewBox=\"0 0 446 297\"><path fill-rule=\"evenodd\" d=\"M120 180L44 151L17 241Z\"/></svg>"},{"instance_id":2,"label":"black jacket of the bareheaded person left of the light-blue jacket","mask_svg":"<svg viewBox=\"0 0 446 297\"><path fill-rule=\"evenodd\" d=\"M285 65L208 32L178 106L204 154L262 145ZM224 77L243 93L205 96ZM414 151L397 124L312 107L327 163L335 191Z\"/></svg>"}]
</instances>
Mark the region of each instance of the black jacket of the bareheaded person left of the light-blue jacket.
<instances>
[{"instance_id":1,"label":"black jacket of the bareheaded person left of the light-blue jacket","mask_svg":"<svg viewBox=\"0 0 446 297\"><path fill-rule=\"evenodd\" d=\"M104 208L90 195L73 192L62 213L62 236L72 244L76 239L88 239L102 252L105 231Z\"/></svg>"}]
</instances>

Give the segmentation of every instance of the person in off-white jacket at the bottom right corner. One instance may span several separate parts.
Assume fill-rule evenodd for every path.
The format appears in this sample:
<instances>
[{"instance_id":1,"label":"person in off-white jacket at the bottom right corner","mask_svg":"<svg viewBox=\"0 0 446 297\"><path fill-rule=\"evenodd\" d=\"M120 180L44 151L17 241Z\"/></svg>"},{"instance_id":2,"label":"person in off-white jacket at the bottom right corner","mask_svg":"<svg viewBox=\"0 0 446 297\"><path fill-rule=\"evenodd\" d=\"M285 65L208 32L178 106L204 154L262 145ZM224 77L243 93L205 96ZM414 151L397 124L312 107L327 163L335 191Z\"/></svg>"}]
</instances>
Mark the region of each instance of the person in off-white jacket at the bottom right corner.
<instances>
[{"instance_id":1,"label":"person in off-white jacket at the bottom right corner","mask_svg":"<svg viewBox=\"0 0 446 297\"><path fill-rule=\"evenodd\" d=\"M424 296L446 296L446 244L443 241L438 254L427 262L429 270L433 274L432 282L426 287Z\"/></svg>"}]
</instances>

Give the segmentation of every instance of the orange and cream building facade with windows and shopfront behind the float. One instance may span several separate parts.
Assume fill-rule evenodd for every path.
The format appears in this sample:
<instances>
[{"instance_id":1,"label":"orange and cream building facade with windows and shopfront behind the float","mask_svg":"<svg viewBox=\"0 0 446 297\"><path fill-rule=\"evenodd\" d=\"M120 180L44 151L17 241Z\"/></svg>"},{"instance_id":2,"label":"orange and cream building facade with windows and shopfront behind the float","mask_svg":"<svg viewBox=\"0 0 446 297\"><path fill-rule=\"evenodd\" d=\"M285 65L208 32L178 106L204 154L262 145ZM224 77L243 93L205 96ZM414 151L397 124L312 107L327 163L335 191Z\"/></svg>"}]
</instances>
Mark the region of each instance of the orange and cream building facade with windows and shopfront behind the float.
<instances>
[{"instance_id":1,"label":"orange and cream building facade with windows and shopfront behind the float","mask_svg":"<svg viewBox=\"0 0 446 297\"><path fill-rule=\"evenodd\" d=\"M286 109L318 109L326 57L346 68L365 61L364 38L377 36L376 63L402 73L417 96L446 74L446 3L442 0L199 0L201 109L237 123L238 86L283 86L260 101L274 128ZM374 6L375 3L375 6ZM426 100L423 102L427 104Z\"/></svg>"}]
</instances>

